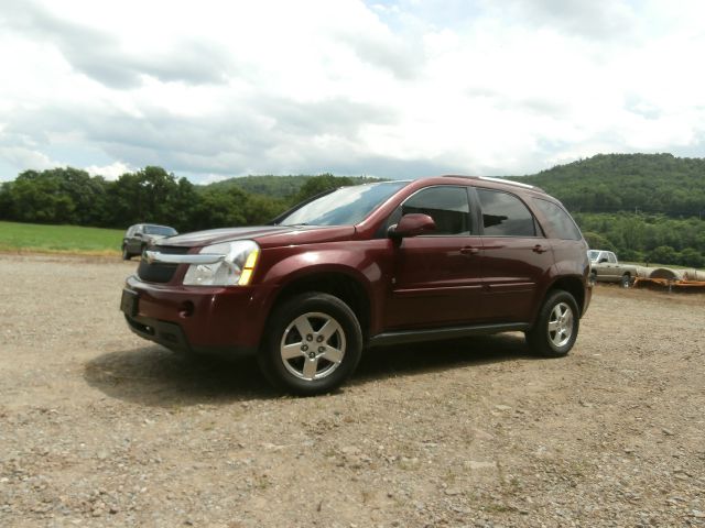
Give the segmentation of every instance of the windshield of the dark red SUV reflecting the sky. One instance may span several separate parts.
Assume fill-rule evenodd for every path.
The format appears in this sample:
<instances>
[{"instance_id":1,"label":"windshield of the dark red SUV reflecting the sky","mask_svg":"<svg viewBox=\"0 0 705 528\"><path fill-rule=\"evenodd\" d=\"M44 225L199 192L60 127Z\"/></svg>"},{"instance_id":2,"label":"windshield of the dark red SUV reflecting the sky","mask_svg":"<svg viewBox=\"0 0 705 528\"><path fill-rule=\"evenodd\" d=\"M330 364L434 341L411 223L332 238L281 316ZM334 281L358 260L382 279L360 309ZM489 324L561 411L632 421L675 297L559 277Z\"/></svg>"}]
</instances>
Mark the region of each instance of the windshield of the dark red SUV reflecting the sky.
<instances>
[{"instance_id":1,"label":"windshield of the dark red SUV reflecting the sky","mask_svg":"<svg viewBox=\"0 0 705 528\"><path fill-rule=\"evenodd\" d=\"M282 218L280 226L354 226L409 182L343 187Z\"/></svg>"}]
</instances>

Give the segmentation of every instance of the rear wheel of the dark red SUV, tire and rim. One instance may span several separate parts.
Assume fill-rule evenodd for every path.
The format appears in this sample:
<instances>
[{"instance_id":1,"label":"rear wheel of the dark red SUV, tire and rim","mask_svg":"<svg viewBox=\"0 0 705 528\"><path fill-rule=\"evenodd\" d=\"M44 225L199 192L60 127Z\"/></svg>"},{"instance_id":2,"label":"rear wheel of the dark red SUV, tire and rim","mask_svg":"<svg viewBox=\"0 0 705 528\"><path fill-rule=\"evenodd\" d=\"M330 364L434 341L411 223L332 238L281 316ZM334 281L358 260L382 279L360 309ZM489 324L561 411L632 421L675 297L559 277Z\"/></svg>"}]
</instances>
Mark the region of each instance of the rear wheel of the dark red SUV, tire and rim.
<instances>
[{"instance_id":1,"label":"rear wheel of the dark red SUV, tire and rim","mask_svg":"<svg viewBox=\"0 0 705 528\"><path fill-rule=\"evenodd\" d=\"M562 289L553 290L543 302L533 328L525 332L531 350L544 358L566 355L581 326L577 302Z\"/></svg>"}]
</instances>

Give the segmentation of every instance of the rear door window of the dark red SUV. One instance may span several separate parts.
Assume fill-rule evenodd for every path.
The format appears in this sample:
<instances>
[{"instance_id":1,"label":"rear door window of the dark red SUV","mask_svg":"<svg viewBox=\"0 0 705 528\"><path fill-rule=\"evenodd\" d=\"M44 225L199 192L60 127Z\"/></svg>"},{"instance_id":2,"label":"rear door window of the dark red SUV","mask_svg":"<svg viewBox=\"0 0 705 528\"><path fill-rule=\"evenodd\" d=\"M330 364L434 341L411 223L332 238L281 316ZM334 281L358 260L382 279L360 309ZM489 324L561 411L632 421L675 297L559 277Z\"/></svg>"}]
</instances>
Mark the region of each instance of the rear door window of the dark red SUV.
<instances>
[{"instance_id":1,"label":"rear door window of the dark red SUV","mask_svg":"<svg viewBox=\"0 0 705 528\"><path fill-rule=\"evenodd\" d=\"M509 193L477 189L482 208L482 228L487 237L535 237L533 215Z\"/></svg>"}]
</instances>

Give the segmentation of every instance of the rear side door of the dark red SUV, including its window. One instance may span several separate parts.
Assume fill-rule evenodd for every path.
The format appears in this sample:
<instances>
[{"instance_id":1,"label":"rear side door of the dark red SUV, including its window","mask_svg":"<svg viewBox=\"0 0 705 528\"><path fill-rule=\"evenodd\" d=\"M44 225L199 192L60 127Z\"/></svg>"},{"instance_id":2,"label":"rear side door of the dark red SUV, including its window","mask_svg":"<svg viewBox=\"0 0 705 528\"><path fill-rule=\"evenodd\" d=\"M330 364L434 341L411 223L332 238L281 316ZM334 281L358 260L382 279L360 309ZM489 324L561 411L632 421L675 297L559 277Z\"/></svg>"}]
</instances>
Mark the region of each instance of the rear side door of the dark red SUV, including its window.
<instances>
[{"instance_id":1,"label":"rear side door of the dark red SUV, including its window","mask_svg":"<svg viewBox=\"0 0 705 528\"><path fill-rule=\"evenodd\" d=\"M476 197L482 235L484 316L488 322L529 322L551 275L551 244L517 195L477 188Z\"/></svg>"}]
</instances>

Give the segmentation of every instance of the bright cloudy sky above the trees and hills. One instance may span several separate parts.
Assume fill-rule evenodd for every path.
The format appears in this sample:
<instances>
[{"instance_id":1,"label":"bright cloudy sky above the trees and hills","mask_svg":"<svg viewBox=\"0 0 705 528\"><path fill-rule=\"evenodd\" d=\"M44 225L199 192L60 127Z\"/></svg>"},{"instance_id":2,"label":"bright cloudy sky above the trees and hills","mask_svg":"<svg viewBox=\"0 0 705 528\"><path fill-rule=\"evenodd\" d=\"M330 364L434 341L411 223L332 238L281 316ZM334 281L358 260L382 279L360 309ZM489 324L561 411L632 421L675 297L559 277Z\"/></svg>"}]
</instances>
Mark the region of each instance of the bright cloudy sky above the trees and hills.
<instances>
[{"instance_id":1,"label":"bright cloudy sky above the trees and hills","mask_svg":"<svg viewBox=\"0 0 705 528\"><path fill-rule=\"evenodd\" d=\"M2 0L0 180L705 156L702 0Z\"/></svg>"}]
</instances>

